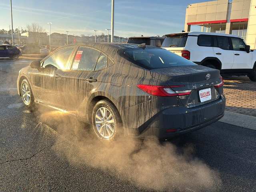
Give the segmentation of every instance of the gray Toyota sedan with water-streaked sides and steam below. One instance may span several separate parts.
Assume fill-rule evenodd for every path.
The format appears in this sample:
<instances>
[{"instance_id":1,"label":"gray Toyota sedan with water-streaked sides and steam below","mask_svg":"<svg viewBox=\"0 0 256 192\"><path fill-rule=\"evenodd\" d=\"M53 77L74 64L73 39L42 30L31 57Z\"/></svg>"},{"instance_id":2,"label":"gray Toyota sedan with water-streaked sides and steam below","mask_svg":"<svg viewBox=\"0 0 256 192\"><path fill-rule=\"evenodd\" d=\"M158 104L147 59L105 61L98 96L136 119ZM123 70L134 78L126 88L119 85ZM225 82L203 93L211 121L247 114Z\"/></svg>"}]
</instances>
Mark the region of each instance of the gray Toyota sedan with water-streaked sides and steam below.
<instances>
[{"instance_id":1,"label":"gray Toyota sedan with water-streaked sides and steam below","mask_svg":"<svg viewBox=\"0 0 256 192\"><path fill-rule=\"evenodd\" d=\"M165 139L212 124L224 115L222 85L219 70L122 43L63 46L22 68L17 79L26 106L80 117L100 140L121 133Z\"/></svg>"}]
</instances>

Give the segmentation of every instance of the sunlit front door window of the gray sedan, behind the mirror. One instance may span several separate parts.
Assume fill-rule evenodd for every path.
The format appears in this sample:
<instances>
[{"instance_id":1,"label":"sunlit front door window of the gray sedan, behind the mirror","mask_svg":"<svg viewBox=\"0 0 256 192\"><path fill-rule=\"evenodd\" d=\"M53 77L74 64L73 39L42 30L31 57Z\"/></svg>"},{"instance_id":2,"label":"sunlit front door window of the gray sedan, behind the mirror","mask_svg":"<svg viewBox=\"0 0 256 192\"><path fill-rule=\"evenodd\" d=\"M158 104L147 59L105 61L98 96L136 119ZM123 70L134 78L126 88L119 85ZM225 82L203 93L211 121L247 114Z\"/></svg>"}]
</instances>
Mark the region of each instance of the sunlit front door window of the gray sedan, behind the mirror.
<instances>
[{"instance_id":1,"label":"sunlit front door window of the gray sedan, behind the mirror","mask_svg":"<svg viewBox=\"0 0 256 192\"><path fill-rule=\"evenodd\" d=\"M46 60L44 60L43 66L47 68L49 67L49 65L53 65L57 69L63 69L63 70L68 69L68 58L72 53L73 49L74 47L68 47L55 52Z\"/></svg>"}]
</instances>

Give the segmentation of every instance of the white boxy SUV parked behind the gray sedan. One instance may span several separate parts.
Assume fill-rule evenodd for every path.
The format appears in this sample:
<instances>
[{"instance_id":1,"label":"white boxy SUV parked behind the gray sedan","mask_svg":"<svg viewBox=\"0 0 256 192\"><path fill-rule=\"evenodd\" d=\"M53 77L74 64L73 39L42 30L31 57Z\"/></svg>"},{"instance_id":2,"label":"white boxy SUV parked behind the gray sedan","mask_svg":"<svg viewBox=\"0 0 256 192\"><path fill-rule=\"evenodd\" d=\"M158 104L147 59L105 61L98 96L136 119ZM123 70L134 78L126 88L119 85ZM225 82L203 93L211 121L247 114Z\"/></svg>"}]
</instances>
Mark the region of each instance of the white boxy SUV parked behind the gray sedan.
<instances>
[{"instance_id":1,"label":"white boxy SUV parked behind the gray sedan","mask_svg":"<svg viewBox=\"0 0 256 192\"><path fill-rule=\"evenodd\" d=\"M220 70L222 76L248 76L256 81L256 52L240 36L206 32L165 35L162 48L196 64Z\"/></svg>"}]
</instances>

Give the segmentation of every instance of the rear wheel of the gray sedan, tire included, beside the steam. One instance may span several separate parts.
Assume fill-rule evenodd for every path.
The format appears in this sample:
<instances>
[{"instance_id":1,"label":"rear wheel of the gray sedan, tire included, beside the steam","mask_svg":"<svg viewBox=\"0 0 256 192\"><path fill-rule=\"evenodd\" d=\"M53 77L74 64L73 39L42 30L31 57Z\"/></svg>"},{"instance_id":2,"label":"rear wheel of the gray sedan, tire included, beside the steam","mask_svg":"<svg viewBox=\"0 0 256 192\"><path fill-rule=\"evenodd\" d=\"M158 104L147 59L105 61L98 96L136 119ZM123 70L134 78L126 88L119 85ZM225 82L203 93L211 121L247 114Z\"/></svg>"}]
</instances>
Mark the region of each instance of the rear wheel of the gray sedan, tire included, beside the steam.
<instances>
[{"instance_id":1,"label":"rear wheel of the gray sedan, tire included, beside the steam","mask_svg":"<svg viewBox=\"0 0 256 192\"><path fill-rule=\"evenodd\" d=\"M116 140L121 134L121 117L110 100L100 100L95 104L92 110L92 127L97 138L102 142Z\"/></svg>"}]
</instances>

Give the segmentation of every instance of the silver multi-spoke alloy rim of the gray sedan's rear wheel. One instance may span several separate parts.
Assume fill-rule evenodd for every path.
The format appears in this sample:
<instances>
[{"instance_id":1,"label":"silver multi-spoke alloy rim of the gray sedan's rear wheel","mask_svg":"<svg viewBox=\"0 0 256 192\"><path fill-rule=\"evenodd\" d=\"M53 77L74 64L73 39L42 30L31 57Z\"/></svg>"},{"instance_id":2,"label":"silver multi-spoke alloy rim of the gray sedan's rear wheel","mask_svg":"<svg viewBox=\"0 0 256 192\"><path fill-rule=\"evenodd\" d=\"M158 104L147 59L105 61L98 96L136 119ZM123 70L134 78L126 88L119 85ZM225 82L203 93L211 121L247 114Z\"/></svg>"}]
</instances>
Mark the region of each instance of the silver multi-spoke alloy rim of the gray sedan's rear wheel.
<instances>
[{"instance_id":1,"label":"silver multi-spoke alloy rim of the gray sedan's rear wheel","mask_svg":"<svg viewBox=\"0 0 256 192\"><path fill-rule=\"evenodd\" d=\"M105 107L96 112L95 124L98 132L104 138L110 138L115 131L115 120L112 113Z\"/></svg>"}]
</instances>

